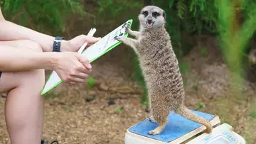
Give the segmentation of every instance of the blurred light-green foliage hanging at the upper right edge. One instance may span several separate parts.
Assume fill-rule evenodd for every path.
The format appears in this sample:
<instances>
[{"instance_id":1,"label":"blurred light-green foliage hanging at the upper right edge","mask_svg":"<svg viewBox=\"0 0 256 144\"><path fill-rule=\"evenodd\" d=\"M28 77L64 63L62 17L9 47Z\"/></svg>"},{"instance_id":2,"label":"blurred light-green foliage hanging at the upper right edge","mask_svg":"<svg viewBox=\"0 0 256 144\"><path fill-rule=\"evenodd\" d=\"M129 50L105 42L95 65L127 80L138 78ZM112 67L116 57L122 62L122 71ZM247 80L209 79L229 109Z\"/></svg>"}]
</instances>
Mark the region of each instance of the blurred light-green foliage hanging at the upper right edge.
<instances>
[{"instance_id":1,"label":"blurred light-green foliage hanging at the upper right edge","mask_svg":"<svg viewBox=\"0 0 256 144\"><path fill-rule=\"evenodd\" d=\"M242 74L242 56L256 31L256 4L245 0L236 3L218 0L217 3L220 48L230 70Z\"/></svg>"}]
</instances>

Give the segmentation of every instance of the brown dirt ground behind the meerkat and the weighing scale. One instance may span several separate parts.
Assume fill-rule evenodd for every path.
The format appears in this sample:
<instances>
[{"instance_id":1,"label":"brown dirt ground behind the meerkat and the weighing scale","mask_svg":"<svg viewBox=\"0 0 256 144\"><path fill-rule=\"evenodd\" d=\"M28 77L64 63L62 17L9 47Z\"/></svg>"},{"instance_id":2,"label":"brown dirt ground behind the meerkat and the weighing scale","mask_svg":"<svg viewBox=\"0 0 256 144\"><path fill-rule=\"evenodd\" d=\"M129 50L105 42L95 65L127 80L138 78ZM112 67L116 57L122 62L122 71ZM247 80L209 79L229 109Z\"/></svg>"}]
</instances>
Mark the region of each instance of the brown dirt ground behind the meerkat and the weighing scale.
<instances>
[{"instance_id":1,"label":"brown dirt ground behind the meerkat and the weighing scale","mask_svg":"<svg viewBox=\"0 0 256 144\"><path fill-rule=\"evenodd\" d=\"M214 38L202 38L202 56L199 47L183 57L186 106L198 111L216 114L222 123L230 123L248 144L256 143L255 89L248 82L235 84L220 57ZM148 118L142 106L142 89L131 79L129 58L119 55L117 47L112 57L106 54L92 63L92 77L96 84L87 90L86 84L60 84L45 101L43 138L57 139L59 143L119 144L124 143L127 128ZM128 59L128 60L127 60ZM240 94L230 91L240 89ZM90 98L90 99L89 99ZM93 98L93 99L91 99ZM92 100L92 101L90 101ZM113 104L114 101L114 104ZM0 143L9 143L4 121L5 98L0 98ZM112 103L112 104L109 104Z\"/></svg>"}]
</instances>

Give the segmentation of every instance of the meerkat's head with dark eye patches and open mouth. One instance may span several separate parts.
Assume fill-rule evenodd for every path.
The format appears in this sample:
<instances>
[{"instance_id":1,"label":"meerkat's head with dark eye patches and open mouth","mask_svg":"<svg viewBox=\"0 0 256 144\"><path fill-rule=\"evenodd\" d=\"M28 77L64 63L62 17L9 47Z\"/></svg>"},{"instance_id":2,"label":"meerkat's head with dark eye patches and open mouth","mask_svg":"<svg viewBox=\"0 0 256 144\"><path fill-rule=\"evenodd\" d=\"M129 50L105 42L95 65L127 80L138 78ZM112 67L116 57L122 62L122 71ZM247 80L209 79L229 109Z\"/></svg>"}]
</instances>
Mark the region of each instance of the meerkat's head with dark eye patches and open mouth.
<instances>
[{"instance_id":1,"label":"meerkat's head with dark eye patches and open mouth","mask_svg":"<svg viewBox=\"0 0 256 144\"><path fill-rule=\"evenodd\" d=\"M161 28L164 26L166 13L157 6L145 6L139 14L142 28Z\"/></svg>"}]
</instances>

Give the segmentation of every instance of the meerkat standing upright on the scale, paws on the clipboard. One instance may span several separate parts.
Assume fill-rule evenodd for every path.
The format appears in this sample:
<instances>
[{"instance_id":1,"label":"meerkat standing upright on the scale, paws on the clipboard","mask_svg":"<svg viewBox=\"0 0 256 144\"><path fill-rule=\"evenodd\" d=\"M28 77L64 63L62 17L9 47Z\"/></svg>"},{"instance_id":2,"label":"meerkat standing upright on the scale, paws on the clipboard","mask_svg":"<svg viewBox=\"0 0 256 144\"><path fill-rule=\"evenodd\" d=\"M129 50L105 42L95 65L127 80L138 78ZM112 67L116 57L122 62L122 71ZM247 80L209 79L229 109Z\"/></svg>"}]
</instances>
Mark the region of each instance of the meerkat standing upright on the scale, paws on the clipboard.
<instances>
[{"instance_id":1,"label":"meerkat standing upright on the scale, paws on the clipboard","mask_svg":"<svg viewBox=\"0 0 256 144\"><path fill-rule=\"evenodd\" d=\"M184 105L185 92L178 60L172 49L169 33L165 29L166 13L157 6L146 6L139 13L139 31L126 28L135 39L124 36L115 37L133 48L139 57L146 88L148 89L149 120L159 123L150 135L158 135L168 123L171 111L206 126L211 133L212 126L206 119L192 113Z\"/></svg>"}]
</instances>

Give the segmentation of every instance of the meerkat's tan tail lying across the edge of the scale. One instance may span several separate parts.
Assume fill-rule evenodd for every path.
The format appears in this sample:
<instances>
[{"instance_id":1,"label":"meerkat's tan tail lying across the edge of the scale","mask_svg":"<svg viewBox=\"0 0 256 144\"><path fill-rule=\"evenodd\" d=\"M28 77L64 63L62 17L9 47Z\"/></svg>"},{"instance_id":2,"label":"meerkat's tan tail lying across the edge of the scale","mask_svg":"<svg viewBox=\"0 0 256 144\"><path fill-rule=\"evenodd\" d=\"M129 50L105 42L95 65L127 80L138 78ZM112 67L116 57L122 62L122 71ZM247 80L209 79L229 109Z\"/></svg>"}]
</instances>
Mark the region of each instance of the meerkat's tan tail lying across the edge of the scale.
<instances>
[{"instance_id":1,"label":"meerkat's tan tail lying across the edge of the scale","mask_svg":"<svg viewBox=\"0 0 256 144\"><path fill-rule=\"evenodd\" d=\"M176 110L176 113L190 119L191 121L203 124L203 126L206 126L206 133L211 133L213 127L211 126L210 122L207 121L205 118L202 118L201 116L197 116L195 113L188 110L186 106L181 105L178 110Z\"/></svg>"}]
</instances>

